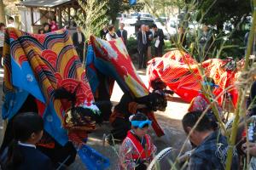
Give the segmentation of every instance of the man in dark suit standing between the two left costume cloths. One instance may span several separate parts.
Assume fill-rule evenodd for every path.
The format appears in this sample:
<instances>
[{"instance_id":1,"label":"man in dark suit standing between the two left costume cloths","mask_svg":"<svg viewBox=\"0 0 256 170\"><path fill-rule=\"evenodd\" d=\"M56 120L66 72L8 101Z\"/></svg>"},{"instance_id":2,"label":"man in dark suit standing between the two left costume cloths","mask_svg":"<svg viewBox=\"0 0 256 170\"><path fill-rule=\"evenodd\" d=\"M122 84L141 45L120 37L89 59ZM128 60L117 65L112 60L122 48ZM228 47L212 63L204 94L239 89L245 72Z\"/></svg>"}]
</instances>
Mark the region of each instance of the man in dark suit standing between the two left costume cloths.
<instances>
[{"instance_id":1,"label":"man in dark suit standing between the two left costume cloths","mask_svg":"<svg viewBox=\"0 0 256 170\"><path fill-rule=\"evenodd\" d=\"M84 42L85 42L85 37L83 32L81 31L81 27L77 26L77 31L73 33L73 45L76 48L79 58L81 62L84 60Z\"/></svg>"}]
</instances>

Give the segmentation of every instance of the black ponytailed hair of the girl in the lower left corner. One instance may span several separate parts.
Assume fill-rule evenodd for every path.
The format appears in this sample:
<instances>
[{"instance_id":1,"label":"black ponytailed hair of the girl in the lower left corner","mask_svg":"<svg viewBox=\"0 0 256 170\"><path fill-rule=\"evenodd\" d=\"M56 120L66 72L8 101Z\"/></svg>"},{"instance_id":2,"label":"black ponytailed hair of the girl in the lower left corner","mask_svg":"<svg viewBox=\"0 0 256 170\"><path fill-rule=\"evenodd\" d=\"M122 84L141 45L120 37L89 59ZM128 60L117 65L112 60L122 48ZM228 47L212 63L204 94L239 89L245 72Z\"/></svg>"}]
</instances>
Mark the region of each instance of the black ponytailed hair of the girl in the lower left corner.
<instances>
[{"instance_id":1,"label":"black ponytailed hair of the girl in the lower left corner","mask_svg":"<svg viewBox=\"0 0 256 170\"><path fill-rule=\"evenodd\" d=\"M6 169L17 169L23 161L18 141L26 142L32 133L40 133L44 129L44 121L38 113L26 112L15 116L13 121L13 133L15 139L9 145Z\"/></svg>"}]
</instances>

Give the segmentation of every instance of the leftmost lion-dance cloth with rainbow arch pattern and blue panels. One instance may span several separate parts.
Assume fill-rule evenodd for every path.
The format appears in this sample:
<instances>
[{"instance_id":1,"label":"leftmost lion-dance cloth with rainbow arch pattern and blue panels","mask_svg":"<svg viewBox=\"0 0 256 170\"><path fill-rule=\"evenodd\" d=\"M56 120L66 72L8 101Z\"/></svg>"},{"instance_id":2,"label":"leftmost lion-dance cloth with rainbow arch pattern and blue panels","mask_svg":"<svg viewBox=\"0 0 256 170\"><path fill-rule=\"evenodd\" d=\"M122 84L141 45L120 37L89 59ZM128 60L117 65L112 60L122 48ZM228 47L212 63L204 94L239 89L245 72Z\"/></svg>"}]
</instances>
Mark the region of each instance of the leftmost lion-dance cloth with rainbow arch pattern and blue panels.
<instances>
[{"instance_id":1,"label":"leftmost lion-dance cloth with rainbow arch pattern and blue panels","mask_svg":"<svg viewBox=\"0 0 256 170\"><path fill-rule=\"evenodd\" d=\"M75 105L92 105L94 100L71 37L66 30L44 35L15 28L8 28L6 32L3 119L15 116L27 95L32 94L38 100L45 130L60 144L66 144L67 130L63 127L69 123L66 114L71 105L54 99L55 89L76 91ZM95 125L90 129L94 128Z\"/></svg>"}]
</instances>

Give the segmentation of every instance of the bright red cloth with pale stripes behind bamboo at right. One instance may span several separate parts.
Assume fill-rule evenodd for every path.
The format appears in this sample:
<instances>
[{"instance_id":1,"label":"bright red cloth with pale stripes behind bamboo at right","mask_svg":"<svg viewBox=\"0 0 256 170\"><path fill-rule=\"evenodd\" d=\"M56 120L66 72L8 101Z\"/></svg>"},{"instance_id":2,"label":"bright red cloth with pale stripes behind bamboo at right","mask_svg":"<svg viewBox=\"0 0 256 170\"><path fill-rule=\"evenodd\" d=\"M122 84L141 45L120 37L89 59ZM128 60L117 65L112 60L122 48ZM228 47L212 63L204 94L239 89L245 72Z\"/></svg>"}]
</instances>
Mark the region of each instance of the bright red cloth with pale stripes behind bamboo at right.
<instances>
[{"instance_id":1,"label":"bright red cloth with pale stripes behind bamboo at right","mask_svg":"<svg viewBox=\"0 0 256 170\"><path fill-rule=\"evenodd\" d=\"M236 82L237 71L225 71L224 65L226 63L227 60L223 59L207 59L201 63L206 77L212 77L219 87L213 92L216 96ZM201 90L202 77L195 59L178 50L148 61L147 74L149 89L151 88L150 82L160 78L187 102L191 102ZM228 92L232 96L233 104L236 105L238 95L236 88L231 88ZM223 101L224 95L218 99L218 103L221 104Z\"/></svg>"}]
</instances>

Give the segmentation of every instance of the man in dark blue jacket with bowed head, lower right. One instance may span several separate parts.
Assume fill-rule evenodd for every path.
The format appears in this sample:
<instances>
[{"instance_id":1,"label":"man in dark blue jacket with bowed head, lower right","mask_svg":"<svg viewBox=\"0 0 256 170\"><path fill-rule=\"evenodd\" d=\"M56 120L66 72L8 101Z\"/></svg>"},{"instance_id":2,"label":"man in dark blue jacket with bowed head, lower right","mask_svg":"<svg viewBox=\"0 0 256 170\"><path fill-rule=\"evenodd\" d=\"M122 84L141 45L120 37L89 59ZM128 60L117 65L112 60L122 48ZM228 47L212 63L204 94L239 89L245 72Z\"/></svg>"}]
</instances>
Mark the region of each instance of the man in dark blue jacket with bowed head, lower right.
<instances>
[{"instance_id":1,"label":"man in dark blue jacket with bowed head, lower right","mask_svg":"<svg viewBox=\"0 0 256 170\"><path fill-rule=\"evenodd\" d=\"M216 128L217 123L212 116L207 114L202 116L202 111L192 111L183 116L183 129L189 134L189 140L195 144L195 150L189 158L189 170L224 170L227 150L229 144L227 139L219 133ZM201 118L197 126L195 123ZM195 129L191 132L192 128ZM233 150L231 169L238 167L238 155L236 149Z\"/></svg>"}]
</instances>

